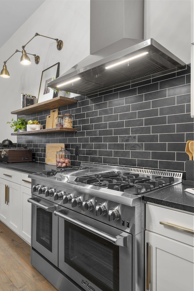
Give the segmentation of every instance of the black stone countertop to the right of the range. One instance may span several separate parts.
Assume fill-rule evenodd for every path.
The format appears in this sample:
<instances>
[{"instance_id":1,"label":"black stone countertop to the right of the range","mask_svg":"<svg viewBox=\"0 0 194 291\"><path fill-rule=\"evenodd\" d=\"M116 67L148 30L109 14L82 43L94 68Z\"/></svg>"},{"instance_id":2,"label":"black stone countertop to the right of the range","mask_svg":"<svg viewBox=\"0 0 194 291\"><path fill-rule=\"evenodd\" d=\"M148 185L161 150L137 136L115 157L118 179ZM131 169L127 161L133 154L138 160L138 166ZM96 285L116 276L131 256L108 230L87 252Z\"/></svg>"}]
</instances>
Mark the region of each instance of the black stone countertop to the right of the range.
<instances>
[{"instance_id":1,"label":"black stone countertop to the right of the range","mask_svg":"<svg viewBox=\"0 0 194 291\"><path fill-rule=\"evenodd\" d=\"M144 195L143 199L147 202L194 212L194 195L185 192L186 188L194 188L194 186L179 183L156 192L150 192Z\"/></svg>"}]
</instances>

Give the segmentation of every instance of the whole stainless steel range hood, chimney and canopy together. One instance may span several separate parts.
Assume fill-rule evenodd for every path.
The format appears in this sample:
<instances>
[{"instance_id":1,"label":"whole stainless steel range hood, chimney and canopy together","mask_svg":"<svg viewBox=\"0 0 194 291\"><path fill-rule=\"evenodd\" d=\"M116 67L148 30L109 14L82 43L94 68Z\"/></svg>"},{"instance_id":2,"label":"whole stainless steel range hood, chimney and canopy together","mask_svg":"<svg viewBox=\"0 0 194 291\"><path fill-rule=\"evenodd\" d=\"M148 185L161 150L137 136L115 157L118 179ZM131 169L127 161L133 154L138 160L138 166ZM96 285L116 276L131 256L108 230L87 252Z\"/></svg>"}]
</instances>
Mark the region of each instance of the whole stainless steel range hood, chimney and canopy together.
<instances>
[{"instance_id":1,"label":"whole stainless steel range hood, chimney and canopy together","mask_svg":"<svg viewBox=\"0 0 194 291\"><path fill-rule=\"evenodd\" d=\"M143 40L144 1L92 0L90 14L90 55L49 82L49 87L92 95L186 68L154 39ZM97 16L108 23L98 26Z\"/></svg>"}]
</instances>

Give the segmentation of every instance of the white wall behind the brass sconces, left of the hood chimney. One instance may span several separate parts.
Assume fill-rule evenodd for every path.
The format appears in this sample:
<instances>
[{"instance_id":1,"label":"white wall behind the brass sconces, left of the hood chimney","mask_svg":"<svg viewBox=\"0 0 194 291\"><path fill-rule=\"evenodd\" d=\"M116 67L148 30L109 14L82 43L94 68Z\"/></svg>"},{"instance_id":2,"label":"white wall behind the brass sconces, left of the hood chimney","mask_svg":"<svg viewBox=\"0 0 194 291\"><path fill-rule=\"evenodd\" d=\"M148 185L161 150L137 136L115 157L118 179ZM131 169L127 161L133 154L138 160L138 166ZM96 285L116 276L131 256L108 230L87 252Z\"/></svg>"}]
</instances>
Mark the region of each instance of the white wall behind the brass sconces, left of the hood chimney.
<instances>
[{"instance_id":1,"label":"white wall behind the brass sconces, left of the hood chimney","mask_svg":"<svg viewBox=\"0 0 194 291\"><path fill-rule=\"evenodd\" d=\"M32 64L20 64L21 53L17 52L7 62L10 78L0 78L0 142L11 139L17 142L17 136L11 136L13 129L6 124L17 115L10 112L21 108L21 93L38 97L42 71L60 62L61 75L89 55L89 0L46 0L38 10L15 32L0 49L0 70L3 62L16 49L22 50L36 32L63 40L63 48L58 51L56 41L36 36L28 45L26 52L40 56L38 65L30 56Z\"/></svg>"}]
</instances>

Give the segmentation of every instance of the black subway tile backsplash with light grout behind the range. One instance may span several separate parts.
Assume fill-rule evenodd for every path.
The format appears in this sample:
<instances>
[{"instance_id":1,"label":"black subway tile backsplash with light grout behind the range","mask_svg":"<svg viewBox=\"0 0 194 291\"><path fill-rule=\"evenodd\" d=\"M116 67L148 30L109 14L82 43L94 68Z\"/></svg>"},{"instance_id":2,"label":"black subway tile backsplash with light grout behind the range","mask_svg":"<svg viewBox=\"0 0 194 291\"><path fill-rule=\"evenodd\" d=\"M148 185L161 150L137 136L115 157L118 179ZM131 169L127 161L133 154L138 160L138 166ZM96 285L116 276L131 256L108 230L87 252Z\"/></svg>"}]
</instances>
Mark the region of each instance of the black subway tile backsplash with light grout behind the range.
<instances>
[{"instance_id":1,"label":"black subway tile backsplash with light grout behind the range","mask_svg":"<svg viewBox=\"0 0 194 291\"><path fill-rule=\"evenodd\" d=\"M190 117L190 65L185 70L114 89L77 96L77 103L59 108L71 113L77 132L17 137L19 146L32 149L45 162L46 143L65 143L71 163L104 163L185 171L187 140L194 139ZM45 128L50 110L22 116L37 119ZM75 156L79 146L79 156Z\"/></svg>"}]
</instances>

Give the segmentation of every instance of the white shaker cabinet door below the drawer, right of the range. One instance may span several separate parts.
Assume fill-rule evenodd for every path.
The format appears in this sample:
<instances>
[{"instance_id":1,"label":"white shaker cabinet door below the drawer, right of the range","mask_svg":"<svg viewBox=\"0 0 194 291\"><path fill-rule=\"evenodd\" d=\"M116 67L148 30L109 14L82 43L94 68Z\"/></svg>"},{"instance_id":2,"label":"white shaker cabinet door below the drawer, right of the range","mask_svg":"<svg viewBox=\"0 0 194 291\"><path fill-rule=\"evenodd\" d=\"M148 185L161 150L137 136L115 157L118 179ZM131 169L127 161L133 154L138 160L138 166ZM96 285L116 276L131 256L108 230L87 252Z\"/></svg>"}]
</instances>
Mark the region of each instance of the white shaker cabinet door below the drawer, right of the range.
<instances>
[{"instance_id":1,"label":"white shaker cabinet door below the drawer, right of the range","mask_svg":"<svg viewBox=\"0 0 194 291\"><path fill-rule=\"evenodd\" d=\"M145 240L151 252L150 286L146 290L193 291L193 247L150 231L145 232Z\"/></svg>"}]
</instances>

